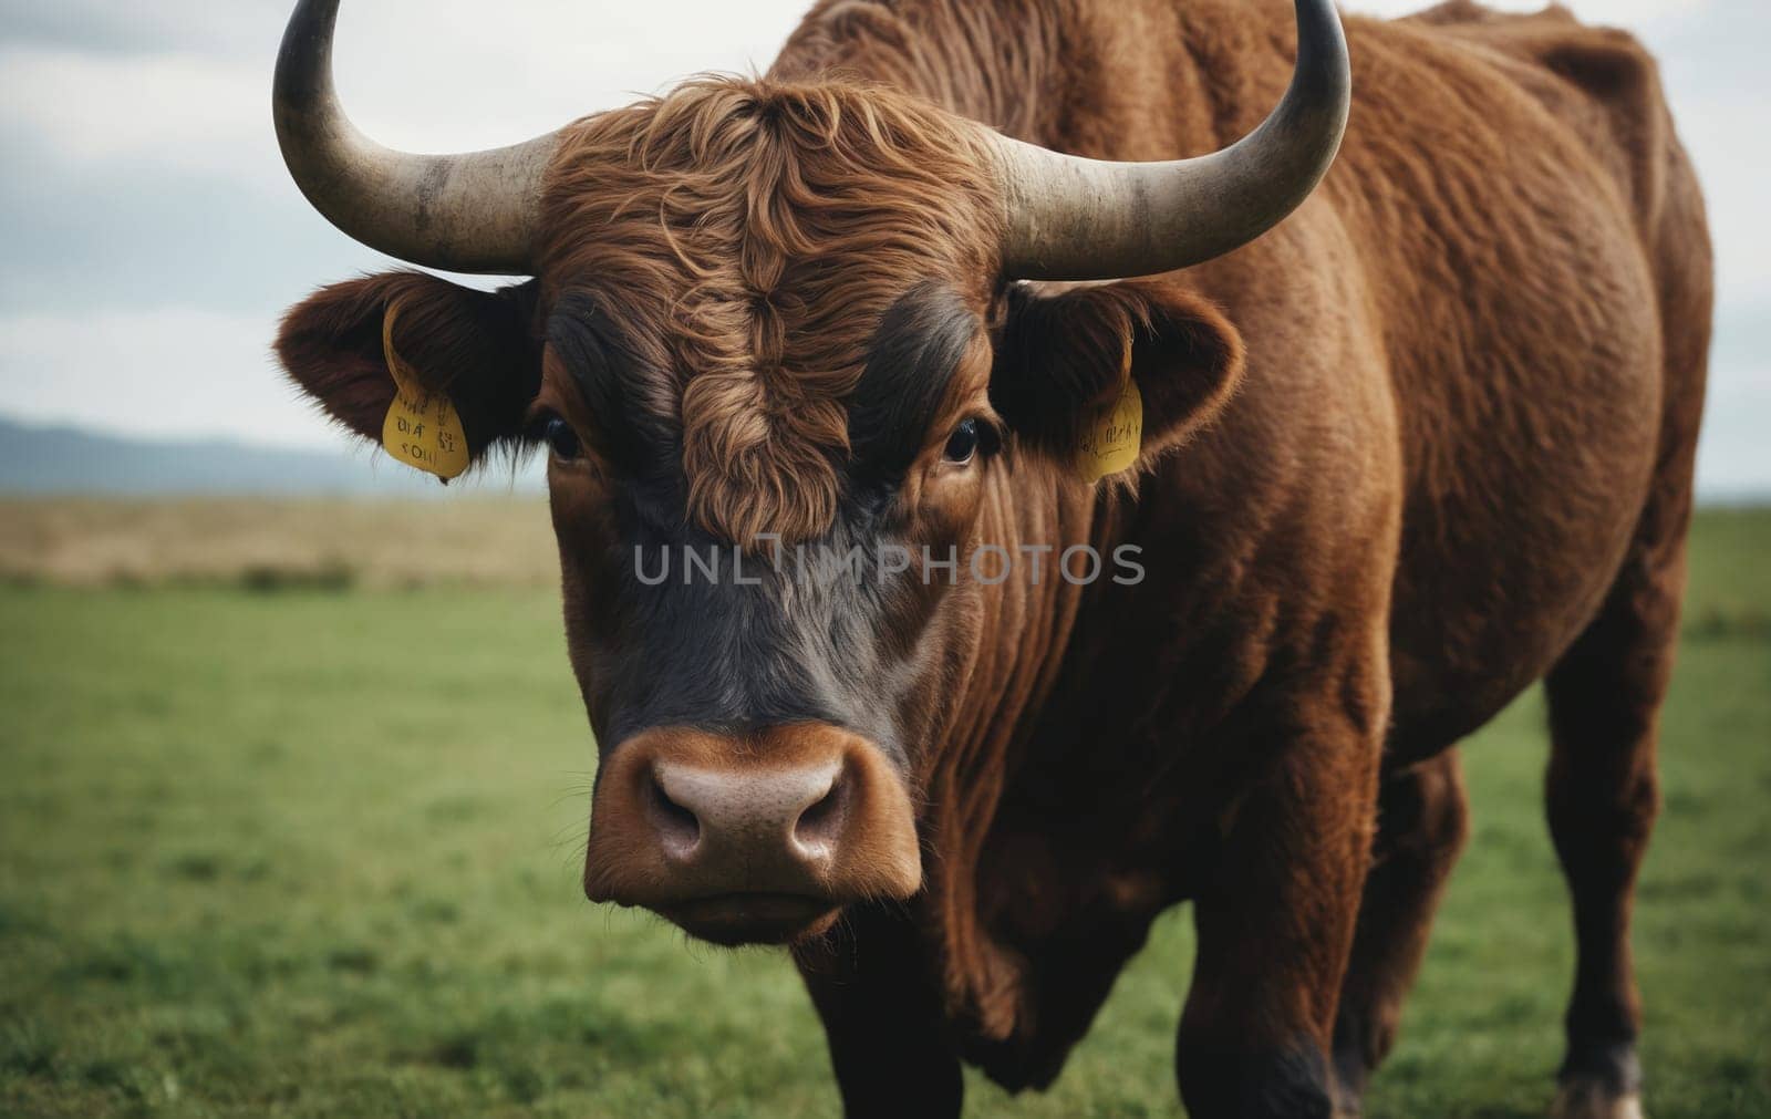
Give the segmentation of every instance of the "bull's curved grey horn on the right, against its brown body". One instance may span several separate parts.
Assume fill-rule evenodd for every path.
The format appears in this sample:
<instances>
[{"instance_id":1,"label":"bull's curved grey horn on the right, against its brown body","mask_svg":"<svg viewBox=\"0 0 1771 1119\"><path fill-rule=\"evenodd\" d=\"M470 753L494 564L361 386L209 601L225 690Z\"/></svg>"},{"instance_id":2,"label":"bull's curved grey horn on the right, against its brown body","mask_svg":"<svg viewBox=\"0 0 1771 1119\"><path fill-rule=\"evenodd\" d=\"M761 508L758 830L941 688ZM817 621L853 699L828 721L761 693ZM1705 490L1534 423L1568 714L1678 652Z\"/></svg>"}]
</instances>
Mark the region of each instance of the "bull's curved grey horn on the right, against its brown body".
<instances>
[{"instance_id":1,"label":"bull's curved grey horn on the right, against its brown body","mask_svg":"<svg viewBox=\"0 0 1771 1119\"><path fill-rule=\"evenodd\" d=\"M1334 0L1296 0L1298 64L1279 108L1231 147L1169 163L1064 156L988 133L1004 274L1114 280L1220 257L1289 214L1334 163L1351 69Z\"/></svg>"}]
</instances>

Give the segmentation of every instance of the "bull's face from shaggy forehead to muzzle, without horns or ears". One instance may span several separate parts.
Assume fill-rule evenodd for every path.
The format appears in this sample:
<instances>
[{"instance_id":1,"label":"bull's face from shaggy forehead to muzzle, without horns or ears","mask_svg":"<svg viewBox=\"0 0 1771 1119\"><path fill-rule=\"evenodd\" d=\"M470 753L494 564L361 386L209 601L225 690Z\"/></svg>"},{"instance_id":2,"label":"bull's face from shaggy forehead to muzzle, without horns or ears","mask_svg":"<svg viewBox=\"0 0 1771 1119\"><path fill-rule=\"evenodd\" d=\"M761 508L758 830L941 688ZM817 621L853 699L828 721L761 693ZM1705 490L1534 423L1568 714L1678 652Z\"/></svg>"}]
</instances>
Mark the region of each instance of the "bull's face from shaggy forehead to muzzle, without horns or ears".
<instances>
[{"instance_id":1,"label":"bull's face from shaggy forehead to muzzle, without horns or ears","mask_svg":"<svg viewBox=\"0 0 1771 1119\"><path fill-rule=\"evenodd\" d=\"M584 889L712 940L921 882L949 588L901 560L965 542L1001 420L971 170L940 136L887 166L880 112L680 90L593 120L549 198L533 420L604 751Z\"/></svg>"}]
</instances>

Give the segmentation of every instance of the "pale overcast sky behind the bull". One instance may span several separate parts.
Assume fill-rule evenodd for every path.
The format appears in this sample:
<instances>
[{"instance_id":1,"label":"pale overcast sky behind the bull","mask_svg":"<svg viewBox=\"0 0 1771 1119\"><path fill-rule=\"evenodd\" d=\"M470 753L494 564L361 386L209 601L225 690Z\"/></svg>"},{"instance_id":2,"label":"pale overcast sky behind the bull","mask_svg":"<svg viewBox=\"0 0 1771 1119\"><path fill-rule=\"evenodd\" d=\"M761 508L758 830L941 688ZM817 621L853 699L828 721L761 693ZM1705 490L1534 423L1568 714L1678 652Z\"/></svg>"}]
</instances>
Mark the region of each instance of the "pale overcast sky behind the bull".
<instances>
[{"instance_id":1,"label":"pale overcast sky behind the bull","mask_svg":"<svg viewBox=\"0 0 1771 1119\"><path fill-rule=\"evenodd\" d=\"M282 382L267 343L312 287L390 262L333 230L283 172L269 83L289 7L0 0L0 414L342 441ZM338 21L338 87L386 143L489 147L696 71L763 69L806 7L354 0ZM1700 483L1771 492L1771 4L1574 9L1659 55L1709 195L1720 308Z\"/></svg>"}]
</instances>

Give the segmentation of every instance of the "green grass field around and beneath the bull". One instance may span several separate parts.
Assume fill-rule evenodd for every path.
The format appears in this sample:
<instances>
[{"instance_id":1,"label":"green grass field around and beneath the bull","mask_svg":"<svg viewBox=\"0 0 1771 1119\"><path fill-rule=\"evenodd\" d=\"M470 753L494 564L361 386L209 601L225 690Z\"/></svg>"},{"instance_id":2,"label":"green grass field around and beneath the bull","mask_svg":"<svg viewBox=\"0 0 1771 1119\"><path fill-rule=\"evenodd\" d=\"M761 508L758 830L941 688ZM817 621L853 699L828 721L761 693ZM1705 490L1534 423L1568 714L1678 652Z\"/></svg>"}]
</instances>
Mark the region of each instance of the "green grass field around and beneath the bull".
<instances>
[{"instance_id":1,"label":"green grass field around and beneath the bull","mask_svg":"<svg viewBox=\"0 0 1771 1119\"><path fill-rule=\"evenodd\" d=\"M556 591L172 583L0 586L0 1112L834 1114L785 958L583 899ZM1705 513L1636 924L1659 1119L1771 1115L1767 616L1771 512ZM1548 1105L1541 721L1466 747L1472 845L1373 1115ZM1179 1114L1190 954L1171 914L1050 1094L974 1078L967 1114Z\"/></svg>"}]
</instances>

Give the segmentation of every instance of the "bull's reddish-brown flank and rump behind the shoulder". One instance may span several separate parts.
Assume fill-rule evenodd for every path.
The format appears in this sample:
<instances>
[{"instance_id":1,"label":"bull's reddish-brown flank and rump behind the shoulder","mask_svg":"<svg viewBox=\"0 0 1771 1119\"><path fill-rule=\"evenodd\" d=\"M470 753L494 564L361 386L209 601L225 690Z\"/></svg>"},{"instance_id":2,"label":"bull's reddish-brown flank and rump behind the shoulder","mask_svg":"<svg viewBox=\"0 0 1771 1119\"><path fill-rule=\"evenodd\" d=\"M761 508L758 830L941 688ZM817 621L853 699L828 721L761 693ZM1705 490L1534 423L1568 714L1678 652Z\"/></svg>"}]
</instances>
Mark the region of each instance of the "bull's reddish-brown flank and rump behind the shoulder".
<instances>
[{"instance_id":1,"label":"bull's reddish-brown flank and rump behind the shoulder","mask_svg":"<svg viewBox=\"0 0 1771 1119\"><path fill-rule=\"evenodd\" d=\"M1688 324L1663 319L1707 278L1668 260L1700 204L1633 41L1466 4L1350 32L1328 189L1397 404L1406 756L1491 717L1597 611L1668 439L1695 439L1700 384L1667 361Z\"/></svg>"}]
</instances>

